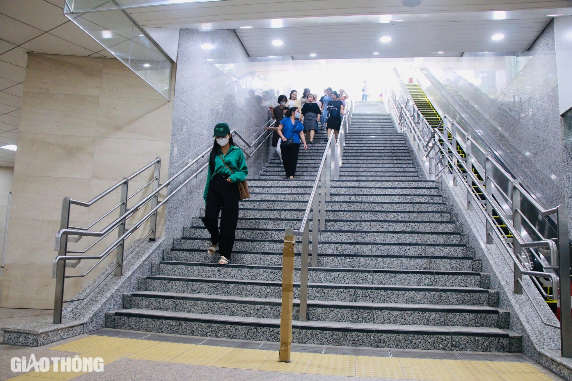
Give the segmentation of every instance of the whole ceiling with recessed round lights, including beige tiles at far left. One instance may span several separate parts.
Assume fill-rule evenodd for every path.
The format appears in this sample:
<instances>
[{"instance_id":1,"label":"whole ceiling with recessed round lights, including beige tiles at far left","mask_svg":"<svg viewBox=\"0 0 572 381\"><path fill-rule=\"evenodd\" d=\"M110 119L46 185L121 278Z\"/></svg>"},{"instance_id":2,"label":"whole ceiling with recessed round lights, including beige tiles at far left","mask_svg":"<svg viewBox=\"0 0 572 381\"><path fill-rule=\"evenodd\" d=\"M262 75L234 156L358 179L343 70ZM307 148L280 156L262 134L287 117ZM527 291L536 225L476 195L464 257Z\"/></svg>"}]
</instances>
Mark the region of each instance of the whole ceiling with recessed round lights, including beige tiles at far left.
<instances>
[{"instance_id":1,"label":"whole ceiling with recessed round lights, including beige tiles at far left","mask_svg":"<svg viewBox=\"0 0 572 381\"><path fill-rule=\"evenodd\" d=\"M494 20L495 10L506 11L506 19ZM234 29L251 57L457 57L526 50L550 20L546 15L572 15L572 1L423 0L410 8L400 0L224 0L129 13L145 27ZM380 23L380 15L402 21ZM272 28L273 19L283 27ZM0 0L0 25L0 145L17 144L27 51L112 55L63 15L63 0ZM492 41L495 33L506 37ZM383 35L392 41L380 42ZM284 45L273 46L273 39ZM13 163L13 151L0 149L0 166Z\"/></svg>"}]
</instances>

